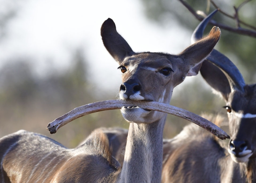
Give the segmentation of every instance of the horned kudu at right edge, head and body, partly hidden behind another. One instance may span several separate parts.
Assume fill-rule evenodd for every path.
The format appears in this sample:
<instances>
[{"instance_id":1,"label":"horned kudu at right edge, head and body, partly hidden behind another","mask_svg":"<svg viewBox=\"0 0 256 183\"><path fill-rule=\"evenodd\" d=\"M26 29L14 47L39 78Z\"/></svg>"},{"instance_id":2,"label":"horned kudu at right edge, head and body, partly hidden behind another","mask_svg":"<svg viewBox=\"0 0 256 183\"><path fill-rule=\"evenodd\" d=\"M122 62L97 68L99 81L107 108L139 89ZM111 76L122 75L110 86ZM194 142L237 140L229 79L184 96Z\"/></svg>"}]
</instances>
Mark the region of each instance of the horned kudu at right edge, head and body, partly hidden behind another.
<instances>
[{"instance_id":1,"label":"horned kudu at right edge, head and body, partly hidden behind another","mask_svg":"<svg viewBox=\"0 0 256 183\"><path fill-rule=\"evenodd\" d=\"M199 24L192 40L201 39L213 14ZM256 182L256 84L246 85L237 67L216 50L200 72L226 101L230 143L223 147L205 130L185 127L164 144L162 182Z\"/></svg>"}]
</instances>

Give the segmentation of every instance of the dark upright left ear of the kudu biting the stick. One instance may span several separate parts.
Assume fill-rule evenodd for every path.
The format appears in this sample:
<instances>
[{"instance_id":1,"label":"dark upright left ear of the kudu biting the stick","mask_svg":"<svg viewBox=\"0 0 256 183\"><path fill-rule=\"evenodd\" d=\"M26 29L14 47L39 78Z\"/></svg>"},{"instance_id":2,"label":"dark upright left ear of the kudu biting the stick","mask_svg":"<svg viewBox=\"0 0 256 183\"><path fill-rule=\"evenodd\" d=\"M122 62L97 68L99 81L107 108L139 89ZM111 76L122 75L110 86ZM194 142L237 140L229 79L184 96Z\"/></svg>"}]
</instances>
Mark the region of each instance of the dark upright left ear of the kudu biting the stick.
<instances>
[{"instance_id":1,"label":"dark upright left ear of the kudu biting the stick","mask_svg":"<svg viewBox=\"0 0 256 183\"><path fill-rule=\"evenodd\" d=\"M115 23L111 18L102 24L101 37L104 46L117 62L122 62L125 57L134 54L128 43L117 33Z\"/></svg>"}]
</instances>

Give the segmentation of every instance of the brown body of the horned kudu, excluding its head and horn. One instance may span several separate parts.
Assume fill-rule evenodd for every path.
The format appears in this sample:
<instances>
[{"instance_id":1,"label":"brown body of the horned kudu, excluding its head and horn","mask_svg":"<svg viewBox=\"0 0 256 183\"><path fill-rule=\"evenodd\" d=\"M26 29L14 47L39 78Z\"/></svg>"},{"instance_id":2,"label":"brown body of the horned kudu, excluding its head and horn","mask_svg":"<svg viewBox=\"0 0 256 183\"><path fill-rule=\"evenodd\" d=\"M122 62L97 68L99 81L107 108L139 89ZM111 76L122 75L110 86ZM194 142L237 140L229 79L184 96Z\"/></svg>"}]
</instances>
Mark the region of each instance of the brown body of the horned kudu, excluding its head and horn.
<instances>
[{"instance_id":1,"label":"brown body of the horned kudu, excluding its head and horn","mask_svg":"<svg viewBox=\"0 0 256 183\"><path fill-rule=\"evenodd\" d=\"M212 115L207 117L212 120ZM216 117L215 123L223 118ZM162 183L255 183L255 159L235 163L225 144L194 124L164 144Z\"/></svg>"}]
</instances>

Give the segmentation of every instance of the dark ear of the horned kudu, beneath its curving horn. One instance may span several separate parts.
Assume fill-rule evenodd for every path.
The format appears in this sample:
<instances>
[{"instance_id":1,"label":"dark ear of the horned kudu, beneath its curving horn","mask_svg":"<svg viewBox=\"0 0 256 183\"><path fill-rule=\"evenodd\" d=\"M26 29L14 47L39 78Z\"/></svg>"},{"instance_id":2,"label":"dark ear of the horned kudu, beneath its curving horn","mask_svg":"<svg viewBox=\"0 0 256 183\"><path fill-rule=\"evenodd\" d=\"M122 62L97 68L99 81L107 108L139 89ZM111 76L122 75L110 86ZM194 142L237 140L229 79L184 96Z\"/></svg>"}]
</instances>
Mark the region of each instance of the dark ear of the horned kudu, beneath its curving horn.
<instances>
[{"instance_id":1,"label":"dark ear of the horned kudu, beneath its curving horn","mask_svg":"<svg viewBox=\"0 0 256 183\"><path fill-rule=\"evenodd\" d=\"M227 102L231 89L225 74L208 60L203 62L200 73L206 82L219 92Z\"/></svg>"}]
</instances>

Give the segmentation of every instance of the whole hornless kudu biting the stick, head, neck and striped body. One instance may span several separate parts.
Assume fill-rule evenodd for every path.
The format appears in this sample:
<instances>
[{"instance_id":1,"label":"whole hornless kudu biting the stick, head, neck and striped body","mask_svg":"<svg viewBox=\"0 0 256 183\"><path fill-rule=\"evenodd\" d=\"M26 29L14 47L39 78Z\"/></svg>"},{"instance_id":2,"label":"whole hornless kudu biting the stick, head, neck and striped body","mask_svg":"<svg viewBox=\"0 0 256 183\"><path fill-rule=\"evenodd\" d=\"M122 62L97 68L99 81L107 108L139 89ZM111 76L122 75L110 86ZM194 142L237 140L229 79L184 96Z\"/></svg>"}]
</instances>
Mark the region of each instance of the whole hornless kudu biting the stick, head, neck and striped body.
<instances>
[{"instance_id":1,"label":"whole hornless kudu biting the stick, head, neck and striped body","mask_svg":"<svg viewBox=\"0 0 256 183\"><path fill-rule=\"evenodd\" d=\"M220 30L213 27L207 37L178 55L135 53L110 18L103 23L101 36L123 73L120 99L169 104L174 87L199 72ZM84 144L67 149L48 137L18 131L0 139L0 182L160 183L167 114L137 106L122 107L121 113L130 122L122 168L102 132L93 132Z\"/></svg>"}]
</instances>

